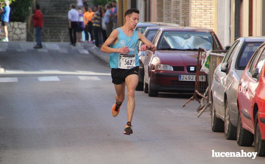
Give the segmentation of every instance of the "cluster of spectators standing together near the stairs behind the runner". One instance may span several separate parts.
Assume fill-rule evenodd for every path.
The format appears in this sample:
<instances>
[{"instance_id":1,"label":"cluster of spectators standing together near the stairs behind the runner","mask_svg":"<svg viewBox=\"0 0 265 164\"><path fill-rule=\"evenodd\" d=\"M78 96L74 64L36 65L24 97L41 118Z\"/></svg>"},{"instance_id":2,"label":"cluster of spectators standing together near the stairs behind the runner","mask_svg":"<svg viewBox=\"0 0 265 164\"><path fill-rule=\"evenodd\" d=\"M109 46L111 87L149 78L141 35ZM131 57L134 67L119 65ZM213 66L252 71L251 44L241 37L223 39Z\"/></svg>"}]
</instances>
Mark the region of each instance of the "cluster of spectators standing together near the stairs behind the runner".
<instances>
[{"instance_id":1,"label":"cluster of spectators standing together near the stairs behind the runner","mask_svg":"<svg viewBox=\"0 0 265 164\"><path fill-rule=\"evenodd\" d=\"M68 11L70 44L75 46L79 41L95 42L95 46L99 47L117 27L117 4L113 0L105 7L94 5L93 10L85 4L85 0L77 0L76 4L70 4ZM82 39L83 31L84 39Z\"/></svg>"}]
</instances>

